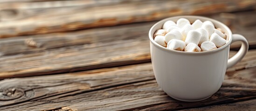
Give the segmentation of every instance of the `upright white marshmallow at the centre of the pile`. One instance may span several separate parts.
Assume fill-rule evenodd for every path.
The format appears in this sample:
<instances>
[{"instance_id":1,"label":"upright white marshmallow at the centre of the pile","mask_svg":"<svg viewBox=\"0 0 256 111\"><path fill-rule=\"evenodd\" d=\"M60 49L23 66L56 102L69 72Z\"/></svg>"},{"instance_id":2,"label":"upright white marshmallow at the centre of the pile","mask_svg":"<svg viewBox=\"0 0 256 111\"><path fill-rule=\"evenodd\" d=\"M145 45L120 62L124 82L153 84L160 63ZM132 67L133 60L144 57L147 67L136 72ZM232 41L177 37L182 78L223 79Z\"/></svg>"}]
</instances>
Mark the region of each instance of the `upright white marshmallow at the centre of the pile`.
<instances>
[{"instance_id":1,"label":"upright white marshmallow at the centre of the pile","mask_svg":"<svg viewBox=\"0 0 256 111\"><path fill-rule=\"evenodd\" d=\"M200 32L194 31L194 30L188 31L185 43L186 43L186 45L188 43L195 43L196 45L198 45L198 43L200 41L200 38L201 38L201 33Z\"/></svg>"}]
</instances>

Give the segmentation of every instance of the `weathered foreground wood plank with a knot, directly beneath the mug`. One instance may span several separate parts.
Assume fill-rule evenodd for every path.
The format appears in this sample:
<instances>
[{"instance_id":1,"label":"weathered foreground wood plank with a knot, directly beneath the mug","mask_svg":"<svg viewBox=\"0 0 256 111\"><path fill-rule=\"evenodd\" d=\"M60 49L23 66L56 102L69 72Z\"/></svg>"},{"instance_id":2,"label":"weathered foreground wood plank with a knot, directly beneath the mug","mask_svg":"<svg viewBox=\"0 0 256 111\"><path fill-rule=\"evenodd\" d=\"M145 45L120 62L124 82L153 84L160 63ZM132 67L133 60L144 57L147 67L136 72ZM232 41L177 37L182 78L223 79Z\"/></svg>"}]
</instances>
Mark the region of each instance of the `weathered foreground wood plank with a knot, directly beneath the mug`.
<instances>
[{"instance_id":1,"label":"weathered foreground wood plank with a knot, directly beneath the mug","mask_svg":"<svg viewBox=\"0 0 256 111\"><path fill-rule=\"evenodd\" d=\"M179 110L256 98L256 67L225 76L221 89L200 102L169 98L150 63L0 81L0 110ZM13 90L13 91L12 91Z\"/></svg>"}]
</instances>

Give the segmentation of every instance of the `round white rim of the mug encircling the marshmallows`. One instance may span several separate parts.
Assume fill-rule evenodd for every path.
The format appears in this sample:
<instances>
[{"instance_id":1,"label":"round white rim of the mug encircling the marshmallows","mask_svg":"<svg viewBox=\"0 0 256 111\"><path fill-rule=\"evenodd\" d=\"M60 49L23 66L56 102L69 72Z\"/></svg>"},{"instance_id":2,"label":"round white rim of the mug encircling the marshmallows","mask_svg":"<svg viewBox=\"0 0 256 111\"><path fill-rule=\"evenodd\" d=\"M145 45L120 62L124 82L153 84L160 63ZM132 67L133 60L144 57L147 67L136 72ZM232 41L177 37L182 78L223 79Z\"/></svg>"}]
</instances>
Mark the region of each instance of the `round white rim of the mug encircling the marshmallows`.
<instances>
[{"instance_id":1,"label":"round white rim of the mug encircling the marshmallows","mask_svg":"<svg viewBox=\"0 0 256 111\"><path fill-rule=\"evenodd\" d=\"M159 25L160 23L162 22L166 22L167 20L170 20L170 19L179 19L179 18L193 18L193 19L206 19L206 20L209 20L211 22L214 22L214 23L217 23L219 25L221 25L222 27L224 27L226 30L227 30L227 38L229 37L229 39L227 40L228 42L226 42L225 45L217 48L217 49L213 49L213 50L208 50L208 51L200 51L200 52L185 52L185 51L179 51L179 50L173 50L173 49L167 49L166 47L163 47L161 46L160 44L156 43L153 39L153 35L151 34L154 27L156 27L157 25ZM228 28L227 25L224 25L223 23L221 23L220 21L218 20L215 20L215 19L211 19L211 18L208 18L208 17L202 17L202 16L194 16L194 15L184 15L184 16L174 16L174 17L170 17L170 18L166 18L166 19L162 19L160 20L159 22L155 23L149 30L149 39L150 39L150 42L158 47L159 49L162 49L164 51L167 51L167 52L173 52L173 53L179 53L179 54L192 54L192 55L200 55L200 54L209 54L209 53L214 53L214 52L218 52L218 51L221 51L225 48L227 48L231 42L232 42L232 32L231 30Z\"/></svg>"}]
</instances>

